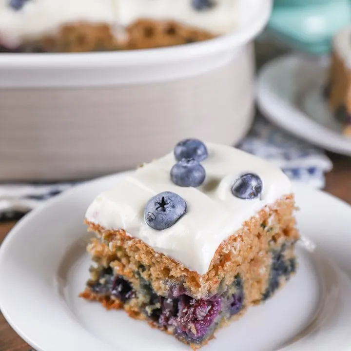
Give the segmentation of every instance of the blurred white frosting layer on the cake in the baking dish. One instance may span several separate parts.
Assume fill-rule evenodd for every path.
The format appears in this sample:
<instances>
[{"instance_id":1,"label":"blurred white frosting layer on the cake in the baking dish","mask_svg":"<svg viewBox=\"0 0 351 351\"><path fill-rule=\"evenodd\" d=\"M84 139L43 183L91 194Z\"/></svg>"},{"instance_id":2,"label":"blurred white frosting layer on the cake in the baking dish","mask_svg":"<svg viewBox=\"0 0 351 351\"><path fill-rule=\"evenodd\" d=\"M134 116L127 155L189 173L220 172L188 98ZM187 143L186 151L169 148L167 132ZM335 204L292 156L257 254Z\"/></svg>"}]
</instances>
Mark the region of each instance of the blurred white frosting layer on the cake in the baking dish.
<instances>
[{"instance_id":1,"label":"blurred white frosting layer on the cake in the baking dish","mask_svg":"<svg viewBox=\"0 0 351 351\"><path fill-rule=\"evenodd\" d=\"M196 11L191 0L26 0L20 10L0 0L0 41L20 45L65 23L88 21L128 25L140 18L177 20L213 32L234 29L236 0L217 0L216 5Z\"/></svg>"}]
</instances>

